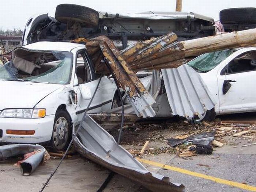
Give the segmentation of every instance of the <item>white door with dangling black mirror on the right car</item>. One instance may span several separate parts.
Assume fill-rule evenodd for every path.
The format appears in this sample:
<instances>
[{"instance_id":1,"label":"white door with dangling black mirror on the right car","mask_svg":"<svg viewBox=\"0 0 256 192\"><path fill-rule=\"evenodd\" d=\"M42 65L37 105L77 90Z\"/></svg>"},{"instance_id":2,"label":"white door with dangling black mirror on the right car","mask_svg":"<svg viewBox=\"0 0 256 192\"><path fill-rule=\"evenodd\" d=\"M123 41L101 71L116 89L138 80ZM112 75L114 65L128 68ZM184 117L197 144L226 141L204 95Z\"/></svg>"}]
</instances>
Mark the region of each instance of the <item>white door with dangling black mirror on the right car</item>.
<instances>
[{"instance_id":1,"label":"white door with dangling black mirror on the right car","mask_svg":"<svg viewBox=\"0 0 256 192\"><path fill-rule=\"evenodd\" d=\"M219 114L256 110L256 50L234 57L217 74Z\"/></svg>"}]
</instances>

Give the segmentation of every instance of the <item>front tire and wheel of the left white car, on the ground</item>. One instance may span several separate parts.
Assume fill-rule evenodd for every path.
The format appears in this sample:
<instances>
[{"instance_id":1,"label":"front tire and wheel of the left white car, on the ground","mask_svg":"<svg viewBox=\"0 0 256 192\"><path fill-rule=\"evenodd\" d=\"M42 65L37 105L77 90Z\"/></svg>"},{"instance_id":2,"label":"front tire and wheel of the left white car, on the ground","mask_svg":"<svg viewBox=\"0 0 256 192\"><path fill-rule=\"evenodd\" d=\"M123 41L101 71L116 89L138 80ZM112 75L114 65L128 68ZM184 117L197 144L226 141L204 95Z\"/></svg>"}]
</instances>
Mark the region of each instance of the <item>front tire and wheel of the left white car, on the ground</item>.
<instances>
[{"instance_id":1,"label":"front tire and wheel of the left white car, on the ground","mask_svg":"<svg viewBox=\"0 0 256 192\"><path fill-rule=\"evenodd\" d=\"M69 114L64 110L57 111L54 118L50 147L52 147L53 151L65 151L71 136L72 127Z\"/></svg>"}]
</instances>

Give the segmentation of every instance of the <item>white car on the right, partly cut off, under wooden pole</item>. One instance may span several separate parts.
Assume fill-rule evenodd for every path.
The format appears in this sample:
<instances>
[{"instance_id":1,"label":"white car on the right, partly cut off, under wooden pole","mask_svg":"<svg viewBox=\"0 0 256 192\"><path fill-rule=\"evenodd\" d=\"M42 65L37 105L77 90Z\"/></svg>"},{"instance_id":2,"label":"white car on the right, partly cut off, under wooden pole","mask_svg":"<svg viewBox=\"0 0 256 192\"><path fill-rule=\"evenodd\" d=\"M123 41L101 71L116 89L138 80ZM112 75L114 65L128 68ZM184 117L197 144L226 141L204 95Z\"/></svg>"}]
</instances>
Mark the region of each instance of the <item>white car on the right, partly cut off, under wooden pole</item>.
<instances>
[{"instance_id":1,"label":"white car on the right, partly cut off, under wooden pole","mask_svg":"<svg viewBox=\"0 0 256 192\"><path fill-rule=\"evenodd\" d=\"M187 64L199 72L217 101L217 115L256 111L255 47L205 53Z\"/></svg>"}]
</instances>

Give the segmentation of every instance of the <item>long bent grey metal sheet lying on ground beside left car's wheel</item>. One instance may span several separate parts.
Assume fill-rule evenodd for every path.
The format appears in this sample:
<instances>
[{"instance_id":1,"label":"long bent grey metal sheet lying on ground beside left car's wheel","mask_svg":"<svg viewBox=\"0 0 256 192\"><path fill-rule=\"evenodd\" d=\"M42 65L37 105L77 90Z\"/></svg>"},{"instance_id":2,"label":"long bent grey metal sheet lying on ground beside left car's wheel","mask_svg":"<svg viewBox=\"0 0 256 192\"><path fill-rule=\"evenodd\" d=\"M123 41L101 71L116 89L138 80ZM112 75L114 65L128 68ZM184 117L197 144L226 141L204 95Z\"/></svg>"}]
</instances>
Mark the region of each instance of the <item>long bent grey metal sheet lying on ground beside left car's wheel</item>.
<instances>
[{"instance_id":1,"label":"long bent grey metal sheet lying on ground beside left car's wheel","mask_svg":"<svg viewBox=\"0 0 256 192\"><path fill-rule=\"evenodd\" d=\"M75 128L73 132L75 132ZM170 182L169 177L149 172L128 151L90 116L81 123L74 140L75 149L84 157L133 180L153 192L182 192L182 184Z\"/></svg>"}]
</instances>

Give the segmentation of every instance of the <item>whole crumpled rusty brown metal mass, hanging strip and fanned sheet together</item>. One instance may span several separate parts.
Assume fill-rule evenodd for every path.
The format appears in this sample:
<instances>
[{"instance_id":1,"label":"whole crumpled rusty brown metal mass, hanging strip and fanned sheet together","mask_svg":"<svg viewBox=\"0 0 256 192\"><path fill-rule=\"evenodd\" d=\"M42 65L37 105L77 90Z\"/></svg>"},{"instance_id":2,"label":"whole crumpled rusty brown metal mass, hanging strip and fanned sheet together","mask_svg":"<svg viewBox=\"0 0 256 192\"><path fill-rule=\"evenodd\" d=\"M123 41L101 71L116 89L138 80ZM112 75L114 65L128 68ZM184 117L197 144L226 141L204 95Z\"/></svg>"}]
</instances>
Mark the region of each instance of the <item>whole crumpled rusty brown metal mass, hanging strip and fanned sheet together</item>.
<instances>
[{"instance_id":1,"label":"whole crumpled rusty brown metal mass, hanging strip and fanned sheet together","mask_svg":"<svg viewBox=\"0 0 256 192\"><path fill-rule=\"evenodd\" d=\"M174 33L138 42L121 52L106 36L99 36L86 42L86 49L94 63L95 71L98 74L113 72L139 117L155 116L151 107L155 100L135 72L140 69L176 68L185 63L184 59L180 59L185 56L183 48L183 44L177 41L177 35Z\"/></svg>"}]
</instances>

